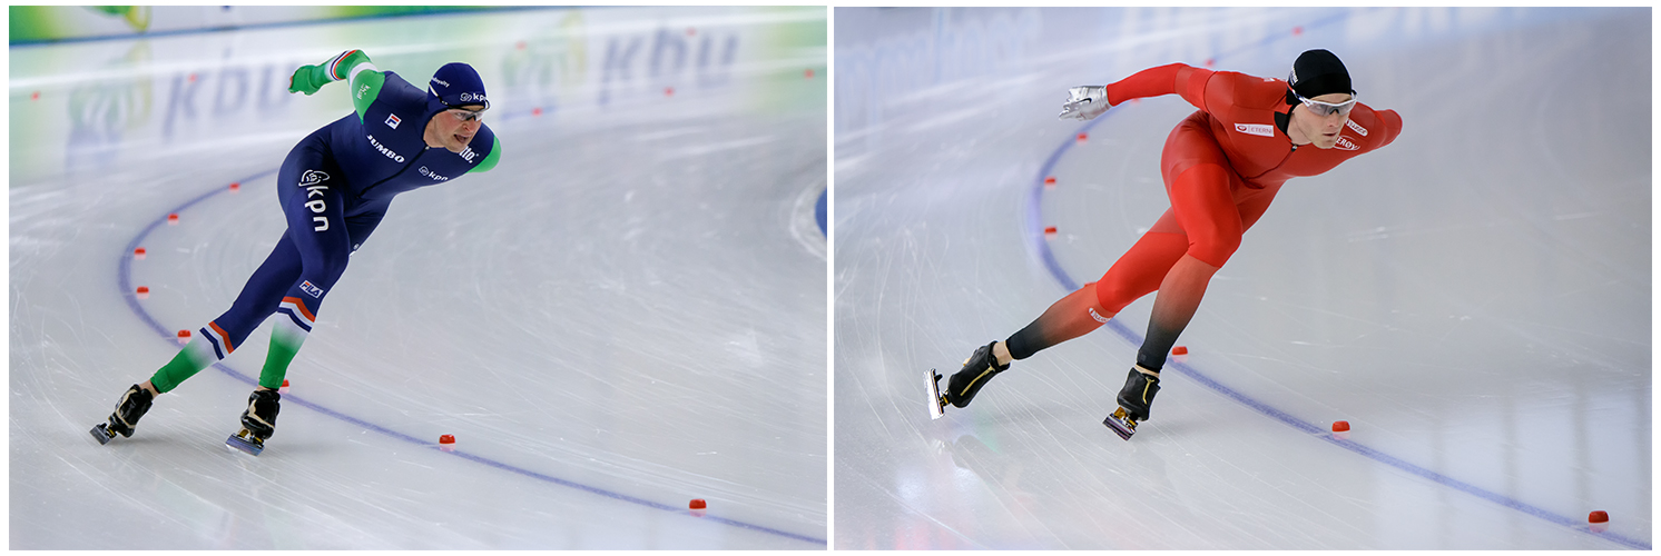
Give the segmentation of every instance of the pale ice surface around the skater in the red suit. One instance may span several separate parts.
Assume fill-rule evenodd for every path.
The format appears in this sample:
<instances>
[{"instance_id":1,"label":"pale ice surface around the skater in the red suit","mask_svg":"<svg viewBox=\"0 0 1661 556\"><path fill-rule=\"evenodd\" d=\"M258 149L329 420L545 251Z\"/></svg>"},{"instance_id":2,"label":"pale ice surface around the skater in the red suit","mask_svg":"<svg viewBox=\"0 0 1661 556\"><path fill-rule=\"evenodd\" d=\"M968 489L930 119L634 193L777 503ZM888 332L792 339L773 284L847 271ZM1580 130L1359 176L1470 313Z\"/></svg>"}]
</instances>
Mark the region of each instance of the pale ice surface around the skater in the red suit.
<instances>
[{"instance_id":1,"label":"pale ice surface around the skater in the red suit","mask_svg":"<svg viewBox=\"0 0 1661 556\"><path fill-rule=\"evenodd\" d=\"M834 548L1653 546L1649 8L835 28ZM1311 48L1404 133L1287 183L1134 438L1101 420L1153 297L928 420L928 368L1100 277L1169 206L1159 149L1194 108L1058 121L1068 86L1171 61L1286 78Z\"/></svg>"}]
</instances>

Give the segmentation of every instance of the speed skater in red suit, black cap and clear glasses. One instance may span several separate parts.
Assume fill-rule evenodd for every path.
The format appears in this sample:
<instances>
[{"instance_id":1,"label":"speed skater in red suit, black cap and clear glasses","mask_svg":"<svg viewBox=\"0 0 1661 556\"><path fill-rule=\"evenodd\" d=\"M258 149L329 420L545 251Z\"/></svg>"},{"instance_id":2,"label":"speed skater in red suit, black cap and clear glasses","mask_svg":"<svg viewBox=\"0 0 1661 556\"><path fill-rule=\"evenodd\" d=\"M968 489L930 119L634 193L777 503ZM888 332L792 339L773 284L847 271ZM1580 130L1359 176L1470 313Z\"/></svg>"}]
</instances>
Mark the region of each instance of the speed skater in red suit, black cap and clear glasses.
<instances>
[{"instance_id":1,"label":"speed skater in red suit, black cap and clear glasses","mask_svg":"<svg viewBox=\"0 0 1661 556\"><path fill-rule=\"evenodd\" d=\"M967 407L1010 362L1091 332L1133 300L1154 297L1148 335L1106 420L1129 438L1148 420L1159 370L1199 309L1211 277L1291 178L1317 176L1379 149L1402 116L1357 101L1349 70L1327 50L1297 56L1286 80L1173 63L1118 83L1075 86L1060 118L1091 119L1134 98L1181 95L1198 108L1171 129L1159 158L1171 207L1100 280L1056 300L1003 342L975 350L933 400ZM930 377L938 390L938 375Z\"/></svg>"}]
</instances>

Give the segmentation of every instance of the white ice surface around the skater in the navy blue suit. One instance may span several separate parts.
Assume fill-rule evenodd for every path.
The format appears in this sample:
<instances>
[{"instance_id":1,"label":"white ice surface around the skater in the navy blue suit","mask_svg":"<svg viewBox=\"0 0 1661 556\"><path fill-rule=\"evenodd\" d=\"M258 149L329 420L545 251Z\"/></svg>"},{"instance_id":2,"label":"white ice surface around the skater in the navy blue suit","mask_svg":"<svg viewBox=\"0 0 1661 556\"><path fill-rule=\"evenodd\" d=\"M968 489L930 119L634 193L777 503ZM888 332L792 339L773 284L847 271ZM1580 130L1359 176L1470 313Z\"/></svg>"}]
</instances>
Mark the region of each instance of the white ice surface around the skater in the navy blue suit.
<instances>
[{"instance_id":1,"label":"white ice surface around the skater in the navy blue suit","mask_svg":"<svg viewBox=\"0 0 1661 556\"><path fill-rule=\"evenodd\" d=\"M513 10L12 48L10 548L826 548L826 27ZM345 48L414 83L473 63L500 166L394 202L264 455L223 441L269 324L100 446L282 234L274 169L350 111L286 78Z\"/></svg>"}]
</instances>

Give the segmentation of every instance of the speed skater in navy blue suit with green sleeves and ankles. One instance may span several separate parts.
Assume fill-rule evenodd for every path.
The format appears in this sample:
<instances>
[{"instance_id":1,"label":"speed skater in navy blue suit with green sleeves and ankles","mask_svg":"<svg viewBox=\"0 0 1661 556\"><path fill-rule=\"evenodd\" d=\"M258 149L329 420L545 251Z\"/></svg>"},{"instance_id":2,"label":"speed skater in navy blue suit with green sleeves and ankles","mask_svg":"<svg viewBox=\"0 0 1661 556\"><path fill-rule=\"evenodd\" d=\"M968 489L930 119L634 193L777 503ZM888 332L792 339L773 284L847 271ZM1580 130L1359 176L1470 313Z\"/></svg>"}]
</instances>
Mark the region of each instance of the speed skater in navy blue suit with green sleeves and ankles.
<instances>
[{"instance_id":1,"label":"speed skater in navy blue suit with green sleeves and ankles","mask_svg":"<svg viewBox=\"0 0 1661 556\"><path fill-rule=\"evenodd\" d=\"M91 435L108 443L131 437L154 398L231 355L271 315L276 327L259 387L247 398L233 446L259 453L276 432L277 388L317 322L324 299L350 254L385 217L392 198L483 173L502 159L502 141L482 118L490 110L485 83L467 63L434 71L427 88L382 71L360 50L301 66L289 93L317 93L347 81L354 111L301 139L277 171L277 199L287 231L219 317L193 335L166 365L131 385L106 423ZM236 445L243 438L244 445Z\"/></svg>"}]
</instances>

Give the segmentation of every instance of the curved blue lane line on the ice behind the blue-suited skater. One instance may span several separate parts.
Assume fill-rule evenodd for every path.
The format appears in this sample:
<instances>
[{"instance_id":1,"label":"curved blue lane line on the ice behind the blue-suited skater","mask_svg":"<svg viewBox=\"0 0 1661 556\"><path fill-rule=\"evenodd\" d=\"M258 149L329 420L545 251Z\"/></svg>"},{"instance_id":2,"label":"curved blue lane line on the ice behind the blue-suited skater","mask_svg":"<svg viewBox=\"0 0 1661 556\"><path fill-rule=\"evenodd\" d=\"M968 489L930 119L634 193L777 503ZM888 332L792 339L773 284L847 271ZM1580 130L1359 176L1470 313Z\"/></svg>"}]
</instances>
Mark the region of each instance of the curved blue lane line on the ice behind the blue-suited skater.
<instances>
[{"instance_id":1,"label":"curved blue lane line on the ice behind the blue-suited skater","mask_svg":"<svg viewBox=\"0 0 1661 556\"><path fill-rule=\"evenodd\" d=\"M254 179L259 179L259 178L264 178L264 176L269 176L269 174L274 174L274 173L276 173L276 169L267 169L267 171L262 171L262 173L243 178L243 179L239 179L239 183L246 184L246 183L251 183ZM221 194L221 193L226 193L226 191L229 191L229 188L214 188L214 189L211 189L211 191L208 191L208 193L204 193L201 196L196 196L194 199L189 199L184 204L181 204L181 206L168 211L168 214L184 212L184 209L189 209L191 206L196 206L198 202L208 201L209 198L213 198L216 194ZM145 229L140 231L138 236L135 236L133 241L126 244L126 251L121 252L121 264L118 266L118 272L120 272L118 282L120 282L120 287L121 287L121 292L123 292L121 297L126 300L126 305L130 309L133 309L133 314L136 314L140 320L145 320L145 324L148 324L151 329L154 329L156 334L159 334L169 344L178 345L176 332L174 330L168 330L166 327L161 325L161 322L156 322L156 319L151 317L149 312L145 310L145 307L138 304L138 297L133 295L133 249L138 249L140 244L145 242L145 237L149 237L149 232L156 231L156 227L161 227L166 221L168 221L166 216L158 217L156 221L149 222L149 226L145 226ZM218 368L219 372L229 375L231 378L241 380L241 382L244 382L247 385L259 385L257 378L254 378L251 375L246 375L243 372L238 372L236 368L231 368L231 367L228 367L223 362L221 363L214 363L213 367ZM304 408L309 408L309 410L314 410L317 413L329 415L329 417L334 417L337 420L342 420L342 422L347 422L347 423L367 428L367 430L374 430L377 433L382 433L382 435L387 435L387 437L392 437L392 438L397 438L397 440L417 445L417 446L434 448L434 450L437 448L435 443L430 443L430 441L425 441L425 440L420 440L420 438L415 438L415 437L410 437L410 435L405 435L405 433L400 433L400 432L395 432L395 430L375 425L375 423L370 423L370 422L365 422L365 420L360 420L357 417L350 417L350 415L331 410L327 407L307 402L306 398L301 398L301 397L292 395L292 393L291 395L284 395L282 402L286 402L286 403L297 403L297 405L301 405ZM523 475L523 476L528 476L528 478L535 478L535 480L540 480L540 481L545 481L545 483L560 485L560 486L570 486L570 488L575 488L575 490L588 491L588 493L606 496L606 498L613 498L613 500L621 500L621 501L633 503L633 505L641 505L641 506L648 506L648 508L654 508L654 510L663 510L663 511L673 511L673 513L686 513L688 511L684 508L669 506L669 505L656 503L656 501L651 501L651 500L635 498L635 496L615 493L615 491L610 491L610 490L605 490L605 488L588 486L588 485L576 483L576 481L568 481L568 480L563 480L563 478L558 478L558 476L537 473L537 471L532 471L532 470L525 470L525 468L513 466L513 465L508 465L508 463L495 461L495 460L490 460L490 458L485 458L485 456L477 456L477 455L465 453L465 451L460 451L460 450L445 451L445 453L455 455L455 456L468 460L468 461L483 463L483 465L488 465L488 466L493 466L497 470L503 470L503 471L508 471L508 473ZM759 526L759 524L752 524L752 523L744 523L744 521L736 521L736 519L728 519L728 518L719 518L719 516L704 515L704 516L699 516L698 519L716 521L716 523L729 524L729 526L734 526L734 528L742 528L742 529L751 529L751 531L776 534L776 536L782 536L782 538L789 538L789 539L797 539L797 541L806 541L806 543L814 543L814 544L829 544L826 539L821 539L821 538L812 538L812 536L806 536L806 534L796 534L796 533L789 533L789 531L779 531L779 529L774 529L774 528L766 528L766 526Z\"/></svg>"}]
</instances>

